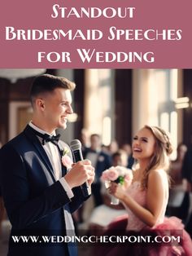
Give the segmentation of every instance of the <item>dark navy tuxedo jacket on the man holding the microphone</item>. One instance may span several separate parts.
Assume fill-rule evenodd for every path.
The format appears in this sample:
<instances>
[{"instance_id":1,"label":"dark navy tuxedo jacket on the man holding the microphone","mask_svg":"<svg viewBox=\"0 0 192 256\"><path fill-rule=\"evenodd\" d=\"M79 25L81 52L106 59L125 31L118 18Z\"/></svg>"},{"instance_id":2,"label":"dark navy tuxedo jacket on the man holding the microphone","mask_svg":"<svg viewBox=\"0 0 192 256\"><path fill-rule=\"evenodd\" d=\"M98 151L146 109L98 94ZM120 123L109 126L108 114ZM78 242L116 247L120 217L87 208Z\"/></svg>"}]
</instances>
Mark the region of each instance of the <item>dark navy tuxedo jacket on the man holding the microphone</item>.
<instances>
[{"instance_id":1,"label":"dark navy tuxedo jacket on the man holding the microphone","mask_svg":"<svg viewBox=\"0 0 192 256\"><path fill-rule=\"evenodd\" d=\"M62 143L62 142L60 142ZM67 147L63 143L63 146ZM62 167L66 174L66 168ZM65 236L63 206L71 214L85 197L80 188L73 189L70 200L55 174L33 129L25 130L0 150L0 180L12 229L8 255L70 255L76 256L76 246L43 241L15 243L12 235ZM69 251L69 252L68 252Z\"/></svg>"}]
</instances>

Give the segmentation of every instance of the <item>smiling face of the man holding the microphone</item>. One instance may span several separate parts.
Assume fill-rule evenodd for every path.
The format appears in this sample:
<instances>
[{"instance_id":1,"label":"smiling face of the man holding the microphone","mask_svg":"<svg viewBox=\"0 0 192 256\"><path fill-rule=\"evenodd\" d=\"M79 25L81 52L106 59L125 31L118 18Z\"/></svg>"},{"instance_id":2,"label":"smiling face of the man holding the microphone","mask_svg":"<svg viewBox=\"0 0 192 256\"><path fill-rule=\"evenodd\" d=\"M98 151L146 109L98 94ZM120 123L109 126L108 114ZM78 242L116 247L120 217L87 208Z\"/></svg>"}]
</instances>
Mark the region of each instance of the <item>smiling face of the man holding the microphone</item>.
<instances>
[{"instance_id":1,"label":"smiling face of the man holding the microphone","mask_svg":"<svg viewBox=\"0 0 192 256\"><path fill-rule=\"evenodd\" d=\"M68 115L73 112L70 90L56 88L52 93L46 94L43 101L43 115L48 130L52 131L56 128L66 129Z\"/></svg>"}]
</instances>

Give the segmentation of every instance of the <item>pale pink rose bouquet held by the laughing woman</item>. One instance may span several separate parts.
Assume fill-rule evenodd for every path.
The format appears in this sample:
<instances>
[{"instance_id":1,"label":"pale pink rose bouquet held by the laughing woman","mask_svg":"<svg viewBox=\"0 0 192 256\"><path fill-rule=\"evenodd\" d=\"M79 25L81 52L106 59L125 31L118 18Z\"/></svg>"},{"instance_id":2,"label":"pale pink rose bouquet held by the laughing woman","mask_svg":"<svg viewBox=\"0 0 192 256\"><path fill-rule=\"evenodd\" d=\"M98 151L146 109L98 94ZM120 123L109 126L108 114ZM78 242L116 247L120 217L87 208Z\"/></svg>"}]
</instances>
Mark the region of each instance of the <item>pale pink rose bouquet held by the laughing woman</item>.
<instances>
[{"instance_id":1,"label":"pale pink rose bouquet held by the laughing woman","mask_svg":"<svg viewBox=\"0 0 192 256\"><path fill-rule=\"evenodd\" d=\"M129 187L133 180L132 170L123 166L112 166L111 168L104 170L101 179L105 182L106 188L110 186L111 182L118 183ZM115 196L111 197L111 205L118 205L119 199Z\"/></svg>"}]
</instances>

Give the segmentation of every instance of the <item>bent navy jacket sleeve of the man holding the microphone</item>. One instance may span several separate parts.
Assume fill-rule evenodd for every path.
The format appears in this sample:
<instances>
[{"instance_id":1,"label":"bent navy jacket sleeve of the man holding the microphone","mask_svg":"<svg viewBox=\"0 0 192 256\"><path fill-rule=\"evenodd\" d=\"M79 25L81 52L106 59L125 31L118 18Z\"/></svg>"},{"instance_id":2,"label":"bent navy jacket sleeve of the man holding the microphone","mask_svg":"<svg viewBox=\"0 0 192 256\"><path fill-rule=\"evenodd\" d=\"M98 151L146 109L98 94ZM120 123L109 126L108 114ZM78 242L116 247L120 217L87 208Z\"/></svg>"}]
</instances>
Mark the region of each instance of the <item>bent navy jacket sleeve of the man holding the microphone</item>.
<instances>
[{"instance_id":1,"label":"bent navy jacket sleeve of the man holding the microphone","mask_svg":"<svg viewBox=\"0 0 192 256\"><path fill-rule=\"evenodd\" d=\"M2 196L15 228L24 228L70 202L58 181L33 198L24 159L10 145L0 151Z\"/></svg>"}]
</instances>

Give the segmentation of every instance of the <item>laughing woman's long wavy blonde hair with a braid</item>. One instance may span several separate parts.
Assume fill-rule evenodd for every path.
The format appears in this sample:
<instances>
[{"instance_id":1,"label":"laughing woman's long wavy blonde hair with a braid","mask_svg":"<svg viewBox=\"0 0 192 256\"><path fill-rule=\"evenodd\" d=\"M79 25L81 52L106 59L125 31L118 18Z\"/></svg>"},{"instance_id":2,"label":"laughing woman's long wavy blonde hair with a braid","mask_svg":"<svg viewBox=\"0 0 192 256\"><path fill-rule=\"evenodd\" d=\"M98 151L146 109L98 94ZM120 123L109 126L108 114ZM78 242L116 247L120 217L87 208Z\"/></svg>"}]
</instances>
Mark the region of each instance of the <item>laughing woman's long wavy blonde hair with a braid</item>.
<instances>
[{"instance_id":1,"label":"laughing woman's long wavy blonde hair with a braid","mask_svg":"<svg viewBox=\"0 0 192 256\"><path fill-rule=\"evenodd\" d=\"M164 169L168 170L169 155L172 153L172 143L168 134L158 126L144 126L144 128L151 130L155 138L155 152L151 157L149 165L146 167L146 172L142 179L142 188L147 187L148 176L150 170ZM169 180L169 178L168 178Z\"/></svg>"}]
</instances>

